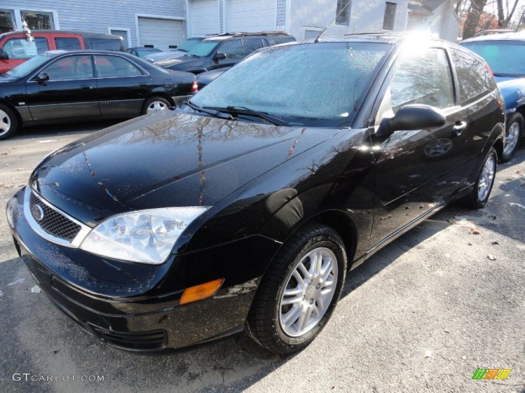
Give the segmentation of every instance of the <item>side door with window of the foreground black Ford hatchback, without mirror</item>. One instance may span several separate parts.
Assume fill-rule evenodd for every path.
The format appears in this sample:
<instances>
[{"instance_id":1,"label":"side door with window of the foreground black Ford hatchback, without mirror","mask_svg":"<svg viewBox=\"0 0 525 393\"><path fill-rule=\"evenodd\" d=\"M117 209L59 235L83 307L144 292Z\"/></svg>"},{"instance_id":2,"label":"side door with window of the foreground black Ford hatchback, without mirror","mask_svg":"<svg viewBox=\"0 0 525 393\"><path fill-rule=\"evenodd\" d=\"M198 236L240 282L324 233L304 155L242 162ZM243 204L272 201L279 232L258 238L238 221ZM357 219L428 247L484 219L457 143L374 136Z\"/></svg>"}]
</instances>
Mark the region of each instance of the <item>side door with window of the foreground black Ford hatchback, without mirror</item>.
<instances>
[{"instance_id":1,"label":"side door with window of the foreground black Ford hatchback, without mirror","mask_svg":"<svg viewBox=\"0 0 525 393\"><path fill-rule=\"evenodd\" d=\"M393 116L408 104L434 106L446 115L442 127L397 130L375 138L376 209L372 244L411 223L449 198L461 187L461 146L453 74L444 48L418 48L404 53L387 77L375 118ZM456 124L457 123L457 124ZM457 127L459 125L459 127ZM460 178L466 175L460 173ZM374 243L375 242L375 243Z\"/></svg>"}]
</instances>

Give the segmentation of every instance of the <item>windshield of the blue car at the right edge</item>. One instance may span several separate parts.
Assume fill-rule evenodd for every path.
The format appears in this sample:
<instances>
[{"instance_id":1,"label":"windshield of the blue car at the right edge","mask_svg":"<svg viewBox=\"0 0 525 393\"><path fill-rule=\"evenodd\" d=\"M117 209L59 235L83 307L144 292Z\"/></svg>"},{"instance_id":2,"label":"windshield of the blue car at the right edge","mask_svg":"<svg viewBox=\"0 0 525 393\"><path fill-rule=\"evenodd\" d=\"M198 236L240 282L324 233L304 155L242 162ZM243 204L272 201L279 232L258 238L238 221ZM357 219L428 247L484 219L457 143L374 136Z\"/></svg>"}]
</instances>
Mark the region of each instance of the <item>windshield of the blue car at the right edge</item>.
<instances>
[{"instance_id":1,"label":"windshield of the blue car at the right edge","mask_svg":"<svg viewBox=\"0 0 525 393\"><path fill-rule=\"evenodd\" d=\"M519 41L480 41L461 44L484 58L496 76L525 75L525 43Z\"/></svg>"}]
</instances>

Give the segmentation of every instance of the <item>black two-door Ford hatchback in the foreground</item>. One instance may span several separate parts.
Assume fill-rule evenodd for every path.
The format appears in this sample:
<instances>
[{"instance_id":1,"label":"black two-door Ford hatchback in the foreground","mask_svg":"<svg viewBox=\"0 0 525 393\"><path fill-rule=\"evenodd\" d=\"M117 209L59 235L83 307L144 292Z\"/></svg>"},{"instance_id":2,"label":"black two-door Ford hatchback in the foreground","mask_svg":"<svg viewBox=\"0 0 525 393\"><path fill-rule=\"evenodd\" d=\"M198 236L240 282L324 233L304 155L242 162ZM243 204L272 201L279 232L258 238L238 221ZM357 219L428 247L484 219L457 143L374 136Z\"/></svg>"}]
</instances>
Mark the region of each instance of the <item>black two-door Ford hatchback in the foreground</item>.
<instances>
[{"instance_id":1,"label":"black two-door Ford hatchback in the foreground","mask_svg":"<svg viewBox=\"0 0 525 393\"><path fill-rule=\"evenodd\" d=\"M51 153L8 223L38 285L112 346L246 330L289 353L327 323L348 270L451 201L485 205L503 121L485 64L451 43L268 48L182 108Z\"/></svg>"}]
</instances>

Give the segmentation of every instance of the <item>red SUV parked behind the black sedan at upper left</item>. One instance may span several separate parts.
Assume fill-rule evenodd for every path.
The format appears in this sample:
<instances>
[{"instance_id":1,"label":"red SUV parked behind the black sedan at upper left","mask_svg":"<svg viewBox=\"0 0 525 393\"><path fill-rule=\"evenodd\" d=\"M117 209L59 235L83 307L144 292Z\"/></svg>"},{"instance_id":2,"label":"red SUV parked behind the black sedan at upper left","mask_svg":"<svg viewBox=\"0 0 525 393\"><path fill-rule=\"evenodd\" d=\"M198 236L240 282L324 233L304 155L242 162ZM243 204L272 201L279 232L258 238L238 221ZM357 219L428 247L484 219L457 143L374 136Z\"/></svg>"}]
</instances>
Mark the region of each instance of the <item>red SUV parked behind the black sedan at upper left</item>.
<instances>
[{"instance_id":1,"label":"red SUV parked behind the black sedan at upper left","mask_svg":"<svg viewBox=\"0 0 525 393\"><path fill-rule=\"evenodd\" d=\"M33 41L21 31L0 34L0 73L48 50L116 50L124 51L122 37L86 31L33 30Z\"/></svg>"}]
</instances>

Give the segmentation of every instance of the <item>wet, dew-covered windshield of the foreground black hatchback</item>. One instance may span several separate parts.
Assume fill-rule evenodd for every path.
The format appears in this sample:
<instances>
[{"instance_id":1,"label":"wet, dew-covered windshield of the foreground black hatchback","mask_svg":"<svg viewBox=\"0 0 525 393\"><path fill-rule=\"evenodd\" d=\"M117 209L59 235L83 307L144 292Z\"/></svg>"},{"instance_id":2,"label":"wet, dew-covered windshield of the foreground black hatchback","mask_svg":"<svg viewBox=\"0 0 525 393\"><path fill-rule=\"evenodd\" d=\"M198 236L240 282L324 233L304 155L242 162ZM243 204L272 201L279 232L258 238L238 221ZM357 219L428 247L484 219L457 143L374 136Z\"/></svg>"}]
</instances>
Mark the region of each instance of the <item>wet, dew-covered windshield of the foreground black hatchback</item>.
<instances>
[{"instance_id":1,"label":"wet, dew-covered windshield of the foreground black hatchback","mask_svg":"<svg viewBox=\"0 0 525 393\"><path fill-rule=\"evenodd\" d=\"M391 48L375 42L272 47L235 65L191 101L244 106L296 126L339 127L352 121Z\"/></svg>"}]
</instances>

